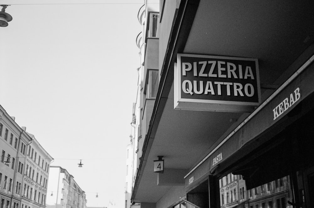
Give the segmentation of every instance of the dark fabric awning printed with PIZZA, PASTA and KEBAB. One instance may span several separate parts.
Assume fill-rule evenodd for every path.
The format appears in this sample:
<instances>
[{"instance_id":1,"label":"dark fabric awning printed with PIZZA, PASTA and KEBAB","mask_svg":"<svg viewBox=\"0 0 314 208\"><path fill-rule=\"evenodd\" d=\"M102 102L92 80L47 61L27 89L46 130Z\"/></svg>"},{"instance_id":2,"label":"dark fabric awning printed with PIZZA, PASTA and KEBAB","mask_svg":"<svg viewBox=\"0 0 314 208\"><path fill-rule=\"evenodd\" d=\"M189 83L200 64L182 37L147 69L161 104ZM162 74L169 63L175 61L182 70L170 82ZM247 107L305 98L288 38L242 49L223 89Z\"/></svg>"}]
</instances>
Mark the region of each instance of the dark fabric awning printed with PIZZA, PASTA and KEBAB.
<instances>
[{"instance_id":1,"label":"dark fabric awning printed with PIZZA, PASTA and KEBAB","mask_svg":"<svg viewBox=\"0 0 314 208\"><path fill-rule=\"evenodd\" d=\"M186 188L204 175L237 163L292 122L282 119L297 115L301 111L298 104L314 92L313 59L314 55L185 176Z\"/></svg>"}]
</instances>

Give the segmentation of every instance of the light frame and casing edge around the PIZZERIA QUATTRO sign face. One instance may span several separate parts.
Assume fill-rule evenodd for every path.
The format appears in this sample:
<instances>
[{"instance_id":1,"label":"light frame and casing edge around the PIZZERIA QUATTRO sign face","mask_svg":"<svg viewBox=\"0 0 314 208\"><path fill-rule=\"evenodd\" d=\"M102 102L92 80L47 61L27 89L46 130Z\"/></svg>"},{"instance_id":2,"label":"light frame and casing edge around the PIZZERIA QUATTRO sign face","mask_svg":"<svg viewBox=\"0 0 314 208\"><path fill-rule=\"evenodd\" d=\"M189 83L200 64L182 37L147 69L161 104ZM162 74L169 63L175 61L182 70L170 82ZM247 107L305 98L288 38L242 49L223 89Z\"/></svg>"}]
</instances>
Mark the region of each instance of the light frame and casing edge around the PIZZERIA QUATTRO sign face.
<instances>
[{"instance_id":1,"label":"light frame and casing edge around the PIZZERIA QUATTRO sign face","mask_svg":"<svg viewBox=\"0 0 314 208\"><path fill-rule=\"evenodd\" d=\"M239 61L254 61L256 69L256 84L258 102L242 102L228 100L210 100L210 99L187 99L181 95L181 57L197 57L211 58L223 60L239 60ZM186 110L206 110L206 111L223 111L223 112L250 112L255 106L261 103L261 88L259 79L258 59L242 58L231 56L209 56L197 54L177 54L177 63L174 66L174 109Z\"/></svg>"}]
</instances>

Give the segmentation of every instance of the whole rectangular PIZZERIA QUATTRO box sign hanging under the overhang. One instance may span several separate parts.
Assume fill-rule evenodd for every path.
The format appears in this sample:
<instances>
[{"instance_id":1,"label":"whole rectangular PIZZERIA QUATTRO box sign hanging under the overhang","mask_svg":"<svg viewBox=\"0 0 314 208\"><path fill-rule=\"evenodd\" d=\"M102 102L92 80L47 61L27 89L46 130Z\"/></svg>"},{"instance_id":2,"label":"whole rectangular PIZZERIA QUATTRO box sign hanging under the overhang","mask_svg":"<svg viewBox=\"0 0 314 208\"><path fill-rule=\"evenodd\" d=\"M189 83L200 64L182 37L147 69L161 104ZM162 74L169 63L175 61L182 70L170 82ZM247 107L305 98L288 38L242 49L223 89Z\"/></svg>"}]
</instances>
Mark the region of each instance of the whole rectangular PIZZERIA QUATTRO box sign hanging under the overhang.
<instances>
[{"instance_id":1,"label":"whole rectangular PIZZERIA QUATTRO box sign hanging under the overhang","mask_svg":"<svg viewBox=\"0 0 314 208\"><path fill-rule=\"evenodd\" d=\"M237 112L260 103L257 59L177 56L175 109Z\"/></svg>"}]
</instances>

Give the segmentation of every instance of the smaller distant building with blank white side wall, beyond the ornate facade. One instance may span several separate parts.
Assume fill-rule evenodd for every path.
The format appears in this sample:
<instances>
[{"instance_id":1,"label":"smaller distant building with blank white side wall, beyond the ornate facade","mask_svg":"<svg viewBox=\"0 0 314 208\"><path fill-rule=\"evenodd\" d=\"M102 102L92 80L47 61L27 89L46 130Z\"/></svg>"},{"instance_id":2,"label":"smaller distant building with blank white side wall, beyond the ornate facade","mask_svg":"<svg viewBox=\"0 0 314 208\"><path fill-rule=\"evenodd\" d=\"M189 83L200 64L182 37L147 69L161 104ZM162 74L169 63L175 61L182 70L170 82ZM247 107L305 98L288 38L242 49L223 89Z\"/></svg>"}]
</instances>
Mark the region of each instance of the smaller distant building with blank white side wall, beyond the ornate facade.
<instances>
[{"instance_id":1,"label":"smaller distant building with blank white side wall, beyond the ornate facade","mask_svg":"<svg viewBox=\"0 0 314 208\"><path fill-rule=\"evenodd\" d=\"M48 208L86 208L86 194L75 182L74 177L60 166L50 167L48 180Z\"/></svg>"}]
</instances>

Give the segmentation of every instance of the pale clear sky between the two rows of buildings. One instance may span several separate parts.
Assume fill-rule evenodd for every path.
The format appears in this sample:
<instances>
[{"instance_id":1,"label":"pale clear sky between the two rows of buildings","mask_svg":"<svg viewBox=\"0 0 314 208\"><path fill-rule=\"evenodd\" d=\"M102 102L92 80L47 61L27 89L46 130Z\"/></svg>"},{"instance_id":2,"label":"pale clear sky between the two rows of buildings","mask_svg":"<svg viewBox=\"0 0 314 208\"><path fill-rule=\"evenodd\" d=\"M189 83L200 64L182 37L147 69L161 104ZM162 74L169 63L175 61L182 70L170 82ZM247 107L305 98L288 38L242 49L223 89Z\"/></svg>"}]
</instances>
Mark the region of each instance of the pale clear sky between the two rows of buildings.
<instances>
[{"instance_id":1,"label":"pale clear sky between the two rows of buildings","mask_svg":"<svg viewBox=\"0 0 314 208\"><path fill-rule=\"evenodd\" d=\"M0 28L0 105L73 175L87 206L124 207L143 3L0 0L13 17Z\"/></svg>"}]
</instances>

